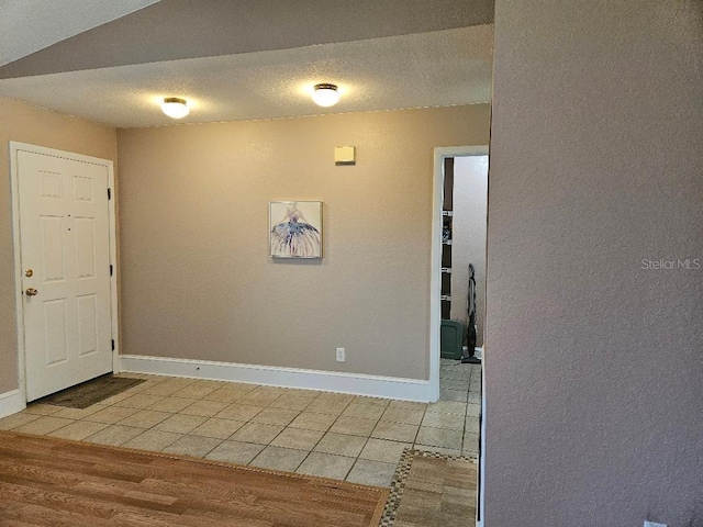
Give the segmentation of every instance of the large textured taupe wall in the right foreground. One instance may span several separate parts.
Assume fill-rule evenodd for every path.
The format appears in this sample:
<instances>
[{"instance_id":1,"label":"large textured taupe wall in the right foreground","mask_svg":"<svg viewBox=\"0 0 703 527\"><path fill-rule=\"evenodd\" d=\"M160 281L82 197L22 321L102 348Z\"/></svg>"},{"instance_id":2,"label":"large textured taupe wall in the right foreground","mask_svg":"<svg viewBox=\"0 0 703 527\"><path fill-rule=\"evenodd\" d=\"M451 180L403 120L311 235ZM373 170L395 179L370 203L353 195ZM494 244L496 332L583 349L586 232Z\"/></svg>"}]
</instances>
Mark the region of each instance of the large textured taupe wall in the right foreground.
<instances>
[{"instance_id":1,"label":"large textured taupe wall in the right foreground","mask_svg":"<svg viewBox=\"0 0 703 527\"><path fill-rule=\"evenodd\" d=\"M703 3L500 0L494 68L486 526L700 527Z\"/></svg>"}]
</instances>

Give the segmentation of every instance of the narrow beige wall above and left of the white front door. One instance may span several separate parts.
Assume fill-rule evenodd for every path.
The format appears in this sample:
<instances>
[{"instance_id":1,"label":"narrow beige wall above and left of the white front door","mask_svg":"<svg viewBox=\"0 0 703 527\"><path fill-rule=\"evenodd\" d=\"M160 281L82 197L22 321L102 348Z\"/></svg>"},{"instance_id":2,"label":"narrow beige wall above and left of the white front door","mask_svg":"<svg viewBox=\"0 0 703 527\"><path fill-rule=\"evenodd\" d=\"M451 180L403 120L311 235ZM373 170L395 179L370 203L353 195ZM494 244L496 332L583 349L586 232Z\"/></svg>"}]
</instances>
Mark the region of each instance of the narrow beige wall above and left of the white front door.
<instances>
[{"instance_id":1,"label":"narrow beige wall above and left of the white front door","mask_svg":"<svg viewBox=\"0 0 703 527\"><path fill-rule=\"evenodd\" d=\"M114 128L0 98L0 393L18 388L10 141L116 159Z\"/></svg>"}]
</instances>

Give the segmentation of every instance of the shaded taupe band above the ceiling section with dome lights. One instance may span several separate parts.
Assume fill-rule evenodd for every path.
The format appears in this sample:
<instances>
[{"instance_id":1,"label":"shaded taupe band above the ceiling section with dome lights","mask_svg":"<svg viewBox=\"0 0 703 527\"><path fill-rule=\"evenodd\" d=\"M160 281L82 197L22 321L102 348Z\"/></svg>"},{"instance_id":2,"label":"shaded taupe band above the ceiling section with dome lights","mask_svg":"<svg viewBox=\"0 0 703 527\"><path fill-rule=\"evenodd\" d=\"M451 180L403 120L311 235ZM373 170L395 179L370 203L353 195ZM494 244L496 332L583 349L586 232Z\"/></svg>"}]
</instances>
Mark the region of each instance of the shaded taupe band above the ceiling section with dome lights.
<instances>
[{"instance_id":1,"label":"shaded taupe band above the ceiling section with dome lights","mask_svg":"<svg viewBox=\"0 0 703 527\"><path fill-rule=\"evenodd\" d=\"M0 0L0 20L7 19L4 3ZM89 15L100 18L94 13L103 13L100 22L111 20L120 10L114 5L127 12L134 3L149 2L13 0L10 14L15 15L8 30L20 41L32 41L46 31L80 29L77 22ZM42 5L44 12L33 5ZM77 7L83 12L76 12ZM492 22L493 0L161 0L0 67L0 78L287 49ZM4 29L0 22L0 34Z\"/></svg>"}]
</instances>

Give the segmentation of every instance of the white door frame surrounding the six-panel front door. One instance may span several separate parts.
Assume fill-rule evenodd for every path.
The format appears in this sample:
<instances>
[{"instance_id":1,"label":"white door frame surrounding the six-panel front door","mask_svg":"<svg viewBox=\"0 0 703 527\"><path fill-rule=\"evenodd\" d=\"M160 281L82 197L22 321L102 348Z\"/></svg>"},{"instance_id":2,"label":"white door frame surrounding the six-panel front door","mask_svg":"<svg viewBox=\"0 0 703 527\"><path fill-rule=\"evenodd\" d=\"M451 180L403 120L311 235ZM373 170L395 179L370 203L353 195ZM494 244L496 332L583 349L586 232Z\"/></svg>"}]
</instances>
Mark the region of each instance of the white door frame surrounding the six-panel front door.
<instances>
[{"instance_id":1,"label":"white door frame surrounding the six-panel front door","mask_svg":"<svg viewBox=\"0 0 703 527\"><path fill-rule=\"evenodd\" d=\"M20 384L20 396L22 407L26 407L26 362L24 349L24 291L22 290L22 258L20 243L20 180L18 153L30 152L32 154L43 154L46 156L62 157L77 161L99 165L108 169L108 188L112 192L112 198L108 201L108 220L110 222L110 265L112 266L112 277L110 277L110 321L112 326L112 339L114 350L112 351L112 370L120 371L120 335L118 330L118 238L115 227L115 195L114 195L114 167L109 159L83 156L66 150L46 148L44 146L30 145L26 143L10 142L10 181L12 184L12 233L14 250L14 285L15 285L15 316L18 330L18 378Z\"/></svg>"}]
</instances>

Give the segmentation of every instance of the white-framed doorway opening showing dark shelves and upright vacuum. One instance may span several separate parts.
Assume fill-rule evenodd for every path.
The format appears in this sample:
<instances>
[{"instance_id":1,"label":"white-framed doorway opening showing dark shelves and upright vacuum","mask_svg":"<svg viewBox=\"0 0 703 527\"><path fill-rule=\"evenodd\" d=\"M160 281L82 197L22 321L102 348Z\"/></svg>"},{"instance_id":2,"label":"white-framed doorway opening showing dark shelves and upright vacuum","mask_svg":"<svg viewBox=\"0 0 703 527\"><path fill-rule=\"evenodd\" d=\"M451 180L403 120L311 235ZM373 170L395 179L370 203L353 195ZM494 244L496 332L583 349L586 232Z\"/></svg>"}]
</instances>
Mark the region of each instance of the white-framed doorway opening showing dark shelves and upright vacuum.
<instances>
[{"instance_id":1,"label":"white-framed doorway opening showing dark shelves and upright vacuum","mask_svg":"<svg viewBox=\"0 0 703 527\"><path fill-rule=\"evenodd\" d=\"M466 403L440 365L479 366L483 355L488 146L435 148L433 199L429 379L435 400Z\"/></svg>"}]
</instances>

